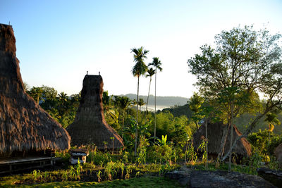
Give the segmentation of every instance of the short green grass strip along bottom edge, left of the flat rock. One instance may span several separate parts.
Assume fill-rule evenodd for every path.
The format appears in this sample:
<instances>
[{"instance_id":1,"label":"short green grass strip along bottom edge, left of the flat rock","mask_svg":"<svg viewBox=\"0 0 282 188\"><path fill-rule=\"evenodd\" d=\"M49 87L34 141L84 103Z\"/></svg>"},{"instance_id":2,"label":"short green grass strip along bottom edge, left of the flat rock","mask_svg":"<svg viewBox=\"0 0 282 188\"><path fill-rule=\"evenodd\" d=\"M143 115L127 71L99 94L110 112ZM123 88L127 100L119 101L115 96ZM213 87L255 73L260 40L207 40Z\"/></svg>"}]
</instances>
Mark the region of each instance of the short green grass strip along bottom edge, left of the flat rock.
<instances>
[{"instance_id":1,"label":"short green grass strip along bottom edge, left of the flat rock","mask_svg":"<svg viewBox=\"0 0 282 188\"><path fill-rule=\"evenodd\" d=\"M180 184L174 180L168 180L164 177L144 175L134 177L129 180L114 180L106 182L50 182L41 184L20 184L13 182L1 184L1 187L180 187Z\"/></svg>"}]
</instances>

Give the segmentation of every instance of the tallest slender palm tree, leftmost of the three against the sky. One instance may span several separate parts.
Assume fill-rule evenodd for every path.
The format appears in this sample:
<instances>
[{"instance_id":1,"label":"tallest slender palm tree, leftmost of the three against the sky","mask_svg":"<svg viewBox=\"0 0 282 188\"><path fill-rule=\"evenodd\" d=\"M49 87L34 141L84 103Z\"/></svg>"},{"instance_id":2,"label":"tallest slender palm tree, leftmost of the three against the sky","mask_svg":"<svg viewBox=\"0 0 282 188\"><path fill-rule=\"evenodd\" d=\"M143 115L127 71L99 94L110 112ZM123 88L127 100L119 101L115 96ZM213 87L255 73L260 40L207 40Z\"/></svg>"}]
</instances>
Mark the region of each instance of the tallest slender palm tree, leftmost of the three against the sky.
<instances>
[{"instance_id":1,"label":"tallest slender palm tree, leftmost of the three against the sky","mask_svg":"<svg viewBox=\"0 0 282 188\"><path fill-rule=\"evenodd\" d=\"M139 49L133 48L131 49L131 52L133 52L133 58L136 64L133 66L132 73L133 76L137 76L137 100L139 101L139 77L140 75L144 75L147 71L147 65L144 63L144 58L147 58L147 54L149 53L148 50L143 49L143 46L141 46ZM135 132L135 149L134 149L134 155L136 156L137 151L137 134L138 134L138 104L136 106L136 132Z\"/></svg>"}]
</instances>

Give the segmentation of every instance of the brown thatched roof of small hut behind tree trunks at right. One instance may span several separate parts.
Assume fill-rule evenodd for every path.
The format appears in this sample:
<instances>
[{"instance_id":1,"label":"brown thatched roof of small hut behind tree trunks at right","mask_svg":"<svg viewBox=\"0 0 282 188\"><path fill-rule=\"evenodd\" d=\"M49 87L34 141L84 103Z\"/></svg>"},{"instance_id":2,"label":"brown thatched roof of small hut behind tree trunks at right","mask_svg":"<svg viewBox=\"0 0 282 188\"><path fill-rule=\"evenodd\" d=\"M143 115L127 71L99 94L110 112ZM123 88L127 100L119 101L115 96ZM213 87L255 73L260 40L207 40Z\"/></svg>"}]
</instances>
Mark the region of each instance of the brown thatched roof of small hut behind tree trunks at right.
<instances>
[{"instance_id":1,"label":"brown thatched roof of small hut behind tree trunks at right","mask_svg":"<svg viewBox=\"0 0 282 188\"><path fill-rule=\"evenodd\" d=\"M218 154L220 149L220 143L221 138L223 135L223 130L226 127L226 125L223 125L223 123L208 123L207 124L207 137L208 137L208 151L212 154ZM229 145L230 145L230 132L231 130L228 130L228 135L226 139L226 145L224 147L224 153L228 152ZM239 136L241 136L242 133L238 130L238 128L233 125L233 142L235 139ZM200 146L202 142L202 138L205 137L205 127L202 125L195 134L193 134L193 146L197 148ZM250 156L251 155L251 146L250 143L247 142L247 139L241 138L240 142L237 142L237 146L235 146L235 149L233 150L234 153L240 155L240 156Z\"/></svg>"}]
</instances>

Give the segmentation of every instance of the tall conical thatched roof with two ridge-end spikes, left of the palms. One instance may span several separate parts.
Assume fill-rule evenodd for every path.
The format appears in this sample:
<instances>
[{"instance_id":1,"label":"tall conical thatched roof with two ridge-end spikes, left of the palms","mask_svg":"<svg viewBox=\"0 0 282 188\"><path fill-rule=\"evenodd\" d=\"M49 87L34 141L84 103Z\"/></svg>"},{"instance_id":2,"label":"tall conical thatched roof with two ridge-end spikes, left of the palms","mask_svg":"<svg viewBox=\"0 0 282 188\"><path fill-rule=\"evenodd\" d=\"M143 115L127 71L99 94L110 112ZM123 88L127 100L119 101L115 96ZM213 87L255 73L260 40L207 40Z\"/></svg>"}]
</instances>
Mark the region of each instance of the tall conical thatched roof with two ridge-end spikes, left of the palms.
<instances>
[{"instance_id":1,"label":"tall conical thatched roof with two ridge-end spikes, left of the palms","mask_svg":"<svg viewBox=\"0 0 282 188\"><path fill-rule=\"evenodd\" d=\"M95 144L103 150L104 142L107 142L107 149L112 149L111 137L114 137L114 149L123 147L123 140L104 118L103 85L100 75L85 75L78 113L73 123L66 128L71 135L71 144Z\"/></svg>"}]
</instances>

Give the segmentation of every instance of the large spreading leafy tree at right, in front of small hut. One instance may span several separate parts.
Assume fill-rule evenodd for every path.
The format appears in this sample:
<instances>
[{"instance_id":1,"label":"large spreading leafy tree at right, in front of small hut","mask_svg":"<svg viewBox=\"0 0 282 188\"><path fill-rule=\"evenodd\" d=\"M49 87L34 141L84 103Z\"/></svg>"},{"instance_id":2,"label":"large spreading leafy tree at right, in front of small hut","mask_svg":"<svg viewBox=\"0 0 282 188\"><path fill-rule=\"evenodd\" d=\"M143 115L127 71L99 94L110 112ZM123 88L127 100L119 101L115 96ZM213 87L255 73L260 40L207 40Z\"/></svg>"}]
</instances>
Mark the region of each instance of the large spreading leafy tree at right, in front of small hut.
<instances>
[{"instance_id":1,"label":"large spreading leafy tree at right, in front of small hut","mask_svg":"<svg viewBox=\"0 0 282 188\"><path fill-rule=\"evenodd\" d=\"M266 96L266 106L250 123L243 137L251 132L260 118L282 104L280 38L281 35L270 35L267 30L255 31L252 26L233 28L216 35L215 48L204 45L200 48L202 54L188 60L190 73L197 76L196 85L200 92L209 100L218 101L226 114L228 127L240 113L256 109L254 93ZM222 160L230 156L238 139L231 143ZM224 143L223 138L221 151Z\"/></svg>"}]
</instances>

